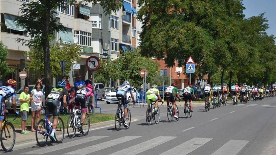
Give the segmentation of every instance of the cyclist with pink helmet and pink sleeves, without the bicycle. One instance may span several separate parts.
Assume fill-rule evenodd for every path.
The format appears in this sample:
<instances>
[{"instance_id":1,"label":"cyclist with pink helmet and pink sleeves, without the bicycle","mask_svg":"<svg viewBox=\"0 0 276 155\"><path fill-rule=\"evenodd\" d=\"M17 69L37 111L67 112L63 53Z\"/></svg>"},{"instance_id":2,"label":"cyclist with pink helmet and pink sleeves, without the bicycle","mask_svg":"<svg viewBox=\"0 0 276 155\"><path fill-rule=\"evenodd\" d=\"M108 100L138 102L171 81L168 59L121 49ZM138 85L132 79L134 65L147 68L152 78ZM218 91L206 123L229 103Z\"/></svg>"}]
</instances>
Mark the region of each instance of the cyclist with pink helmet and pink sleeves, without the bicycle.
<instances>
[{"instance_id":1,"label":"cyclist with pink helmet and pink sleeves, without the bicycle","mask_svg":"<svg viewBox=\"0 0 276 155\"><path fill-rule=\"evenodd\" d=\"M81 124L80 124L80 132L83 133L82 130L82 126L83 126L83 122L85 120L85 116L87 113L87 102L89 100L89 97L92 96L93 97L93 89L94 87L91 84L87 84L86 87L81 88L79 90L77 90L76 92L76 97L75 97L75 103L76 106L81 106L82 108L82 120L81 120ZM92 103L89 102L89 104L91 105Z\"/></svg>"}]
</instances>

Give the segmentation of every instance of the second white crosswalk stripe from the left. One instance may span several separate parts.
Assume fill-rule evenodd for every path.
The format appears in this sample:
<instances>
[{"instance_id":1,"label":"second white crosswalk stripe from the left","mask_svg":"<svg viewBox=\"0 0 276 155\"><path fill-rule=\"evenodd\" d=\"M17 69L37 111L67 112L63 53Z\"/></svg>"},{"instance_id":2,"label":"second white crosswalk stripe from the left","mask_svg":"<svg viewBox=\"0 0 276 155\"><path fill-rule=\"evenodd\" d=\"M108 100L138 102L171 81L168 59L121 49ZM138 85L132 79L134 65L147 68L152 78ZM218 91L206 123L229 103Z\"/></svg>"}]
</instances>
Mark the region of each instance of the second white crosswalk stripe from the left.
<instances>
[{"instance_id":1,"label":"second white crosswalk stripe from the left","mask_svg":"<svg viewBox=\"0 0 276 155\"><path fill-rule=\"evenodd\" d=\"M142 137L142 136L120 137L120 138L117 138L117 139L113 139L113 140L110 140L110 141L107 141L107 142L102 142L102 143L92 145L92 146L89 146L89 147L84 147L84 148L81 148L81 149L78 149L78 150L75 150L75 151L72 151L72 152L67 152L65 154L85 155L85 154L96 152L96 151L99 151L99 150L102 150L102 149L105 149L105 148L108 148L108 147L112 147L112 146L117 145L117 144L121 144L123 142L127 142L127 141L130 141L130 140L139 138L139 137Z\"/></svg>"}]
</instances>

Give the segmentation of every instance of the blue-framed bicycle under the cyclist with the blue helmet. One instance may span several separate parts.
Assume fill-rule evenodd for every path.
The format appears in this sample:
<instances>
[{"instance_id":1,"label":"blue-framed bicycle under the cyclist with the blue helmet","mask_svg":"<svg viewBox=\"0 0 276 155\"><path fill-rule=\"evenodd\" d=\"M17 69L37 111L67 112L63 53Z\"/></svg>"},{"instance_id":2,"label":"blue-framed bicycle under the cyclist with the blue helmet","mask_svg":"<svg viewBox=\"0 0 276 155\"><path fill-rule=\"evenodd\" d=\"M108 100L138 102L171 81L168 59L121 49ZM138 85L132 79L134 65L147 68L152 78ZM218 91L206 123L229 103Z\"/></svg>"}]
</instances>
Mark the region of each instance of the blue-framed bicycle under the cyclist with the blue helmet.
<instances>
[{"instance_id":1,"label":"blue-framed bicycle under the cyclist with the blue helmet","mask_svg":"<svg viewBox=\"0 0 276 155\"><path fill-rule=\"evenodd\" d=\"M46 106L41 106L43 110L41 111L42 114L45 114L45 111L47 111ZM53 127L52 127L52 121L49 119L49 116L52 114L45 114L45 119L41 119L36 126L35 129L35 139L37 144L40 147L44 147L46 145L46 142L48 140L48 137L50 136ZM64 123L61 117L58 117L57 120L57 127L55 132L55 138L57 143L61 143L64 138ZM52 139L51 139L52 140Z\"/></svg>"}]
</instances>

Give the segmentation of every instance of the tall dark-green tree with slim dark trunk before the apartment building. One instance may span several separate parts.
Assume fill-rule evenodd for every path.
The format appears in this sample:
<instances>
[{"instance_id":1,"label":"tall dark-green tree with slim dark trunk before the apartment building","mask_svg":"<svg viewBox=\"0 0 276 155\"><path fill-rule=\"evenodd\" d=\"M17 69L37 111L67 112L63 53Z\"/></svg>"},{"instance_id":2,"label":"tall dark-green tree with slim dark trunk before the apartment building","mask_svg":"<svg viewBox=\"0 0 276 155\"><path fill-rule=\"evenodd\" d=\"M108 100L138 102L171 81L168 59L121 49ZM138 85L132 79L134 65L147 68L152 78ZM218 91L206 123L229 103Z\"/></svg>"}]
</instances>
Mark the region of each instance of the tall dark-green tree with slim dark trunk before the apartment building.
<instances>
[{"instance_id":1,"label":"tall dark-green tree with slim dark trunk before the apartment building","mask_svg":"<svg viewBox=\"0 0 276 155\"><path fill-rule=\"evenodd\" d=\"M72 0L68 3L74 3ZM83 1L85 2L85 1ZM110 14L121 7L122 0L87 0L86 2L100 3L104 8L104 13ZM56 8L61 7L64 0L38 0L22 4L20 12L22 16L17 19L18 25L23 26L29 33L30 40L18 39L29 47L43 49L43 65L45 76L45 95L47 96L51 89L51 67L50 67L50 41L54 39L56 31L65 31L65 27L57 22L55 16ZM63 6L66 9L66 6Z\"/></svg>"}]
</instances>

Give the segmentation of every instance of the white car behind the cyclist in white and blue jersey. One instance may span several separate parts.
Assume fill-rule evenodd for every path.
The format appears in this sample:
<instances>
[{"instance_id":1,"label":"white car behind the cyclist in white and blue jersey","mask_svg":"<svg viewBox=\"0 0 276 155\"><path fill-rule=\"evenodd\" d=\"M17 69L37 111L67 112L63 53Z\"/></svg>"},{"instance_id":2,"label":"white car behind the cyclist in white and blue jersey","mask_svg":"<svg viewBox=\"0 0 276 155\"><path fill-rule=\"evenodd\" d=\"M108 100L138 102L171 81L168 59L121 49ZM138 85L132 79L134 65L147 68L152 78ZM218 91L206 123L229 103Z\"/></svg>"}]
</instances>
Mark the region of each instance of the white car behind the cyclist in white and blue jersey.
<instances>
[{"instance_id":1,"label":"white car behind the cyclist in white and blue jersey","mask_svg":"<svg viewBox=\"0 0 276 155\"><path fill-rule=\"evenodd\" d=\"M115 89L113 89L112 92L109 92L105 96L105 100L107 100L106 101L107 104L109 104L110 102L114 102L114 103L118 103L119 102L119 100L116 97L117 89L118 89L118 87L116 87ZM133 93L133 96L134 96L134 100L137 101L137 98L138 99L140 98L140 94L137 93L137 90L135 88L132 87L131 89L132 89L132 93ZM131 99L131 96L130 96L129 92L126 93L126 97L127 97L128 100Z\"/></svg>"}]
</instances>

